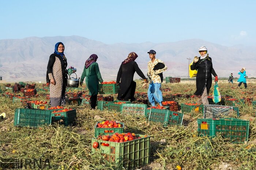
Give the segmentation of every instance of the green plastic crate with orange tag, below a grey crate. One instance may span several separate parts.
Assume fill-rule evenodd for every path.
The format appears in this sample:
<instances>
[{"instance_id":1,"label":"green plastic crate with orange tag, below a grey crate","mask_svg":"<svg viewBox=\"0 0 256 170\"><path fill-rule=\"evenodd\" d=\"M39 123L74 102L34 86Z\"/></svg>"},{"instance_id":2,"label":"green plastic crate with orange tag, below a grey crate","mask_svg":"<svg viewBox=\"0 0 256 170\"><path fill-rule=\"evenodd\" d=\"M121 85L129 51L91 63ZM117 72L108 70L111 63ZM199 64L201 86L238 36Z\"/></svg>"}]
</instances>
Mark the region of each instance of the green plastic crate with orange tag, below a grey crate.
<instances>
[{"instance_id":1,"label":"green plastic crate with orange tag, below a grey crate","mask_svg":"<svg viewBox=\"0 0 256 170\"><path fill-rule=\"evenodd\" d=\"M244 143L249 137L249 121L235 118L197 119L199 136L221 134L229 142Z\"/></svg>"}]
</instances>

